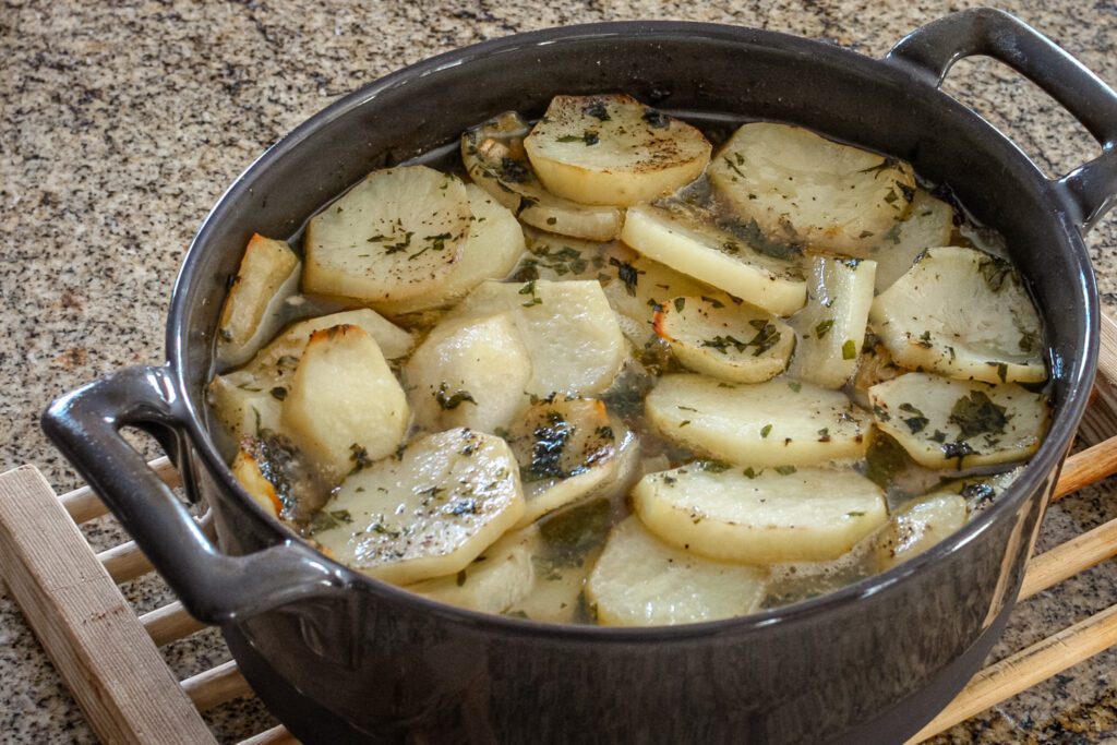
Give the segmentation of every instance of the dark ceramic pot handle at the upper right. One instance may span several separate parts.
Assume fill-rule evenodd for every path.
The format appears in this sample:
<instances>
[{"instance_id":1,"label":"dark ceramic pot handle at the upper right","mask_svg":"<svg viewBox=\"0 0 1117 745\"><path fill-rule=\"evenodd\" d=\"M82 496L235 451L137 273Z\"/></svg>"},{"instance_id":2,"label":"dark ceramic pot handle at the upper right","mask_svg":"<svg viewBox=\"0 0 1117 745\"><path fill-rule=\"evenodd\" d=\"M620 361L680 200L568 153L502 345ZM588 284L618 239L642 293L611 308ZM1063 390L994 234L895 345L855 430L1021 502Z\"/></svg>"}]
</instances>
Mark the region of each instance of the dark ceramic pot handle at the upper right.
<instances>
[{"instance_id":1,"label":"dark ceramic pot handle at the upper right","mask_svg":"<svg viewBox=\"0 0 1117 745\"><path fill-rule=\"evenodd\" d=\"M1101 155L1053 182L1086 232L1117 201L1117 93L1046 36L992 8L965 10L918 28L900 39L885 61L937 88L954 63L975 55L997 59L1038 85L1101 144Z\"/></svg>"}]
</instances>

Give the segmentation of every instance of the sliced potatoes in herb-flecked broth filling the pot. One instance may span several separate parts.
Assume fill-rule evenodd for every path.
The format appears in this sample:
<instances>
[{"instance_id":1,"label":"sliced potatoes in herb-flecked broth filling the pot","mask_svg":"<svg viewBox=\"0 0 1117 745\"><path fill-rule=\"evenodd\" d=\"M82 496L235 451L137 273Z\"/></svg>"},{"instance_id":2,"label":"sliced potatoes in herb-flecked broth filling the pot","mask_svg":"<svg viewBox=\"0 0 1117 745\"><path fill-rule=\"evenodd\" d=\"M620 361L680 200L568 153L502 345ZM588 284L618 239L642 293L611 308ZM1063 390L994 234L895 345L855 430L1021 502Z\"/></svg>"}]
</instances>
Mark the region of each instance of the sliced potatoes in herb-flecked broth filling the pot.
<instances>
[{"instance_id":1,"label":"sliced potatoes in herb-flecked broth filling the pot","mask_svg":"<svg viewBox=\"0 0 1117 745\"><path fill-rule=\"evenodd\" d=\"M354 570L551 622L743 615L962 527L1049 419L1003 246L900 160L727 134L557 96L255 236L209 386L237 479Z\"/></svg>"}]
</instances>

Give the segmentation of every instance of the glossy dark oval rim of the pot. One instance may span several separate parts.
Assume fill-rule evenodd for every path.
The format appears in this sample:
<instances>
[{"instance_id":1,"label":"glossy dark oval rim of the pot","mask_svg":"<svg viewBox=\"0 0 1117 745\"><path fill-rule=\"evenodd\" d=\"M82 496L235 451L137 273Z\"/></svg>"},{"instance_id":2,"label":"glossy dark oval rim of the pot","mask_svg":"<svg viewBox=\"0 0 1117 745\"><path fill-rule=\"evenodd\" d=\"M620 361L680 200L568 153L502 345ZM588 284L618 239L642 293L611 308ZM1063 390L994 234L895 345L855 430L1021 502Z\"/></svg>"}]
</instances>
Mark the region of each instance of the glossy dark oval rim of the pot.
<instances>
[{"instance_id":1,"label":"glossy dark oval rim of the pot","mask_svg":"<svg viewBox=\"0 0 1117 745\"><path fill-rule=\"evenodd\" d=\"M932 548L915 556L892 569L879 574L865 577L832 592L824 593L818 598L803 600L789 605L772 610L753 613L750 615L707 621L703 623L682 624L676 627L645 627L645 628L615 628L601 625L560 624L544 621L533 621L524 619L513 619L499 614L481 613L469 611L450 605L445 605L432 600L428 600L414 593L408 592L386 582L374 580L357 571L328 558L321 554L322 558L330 563L332 567L338 570L350 583L363 583L366 591L394 596L417 608L426 609L428 612L439 617L454 620L475 628L488 628L498 633L514 633L517 636L553 636L557 634L565 639L577 638L586 641L640 641L658 642L669 640L699 639L710 634L724 633L727 631L746 631L761 629L777 623L798 622L813 618L820 613L825 613L838 605L855 602L858 599L867 598L889 588L905 582L909 576L920 572L925 566L945 560L949 554L958 551L972 541L980 539L982 534L989 531L995 523L1009 519L1018 510L1021 503L1025 502L1035 493L1041 481L1049 476L1052 478L1061 468L1069 446L1073 441L1075 432L1078 428L1086 404L1088 393L1092 386L1098 356L1098 296L1092 267L1085 241L1078 227L1067 213L1057 195L1051 190L1051 180L1024 154L1011 140L1002 134L996 127L985 121L973 109L958 103L949 95L932 88L928 85L913 78L907 71L896 65L888 64L850 49L844 49L824 41L792 36L777 31L737 27L722 23L706 23L693 21L612 21L600 23L584 23L569 27L547 28L536 31L516 34L498 39L483 41L451 51L447 51L435 57L421 60L408 67L390 73L376 80L365 84L356 90L343 96L341 99L312 115L295 130L285 135L278 142L269 146L260 154L237 179L225 190L213 208L201 223L197 235L191 241L182 265L175 279L171 296L170 312L166 326L166 357L170 363L174 384L180 392L189 390L185 380L187 360L185 347L188 335L185 333L185 319L189 315L189 293L188 288L197 280L197 267L200 264L198 257L207 249L210 236L218 230L222 221L223 213L228 208L231 198L242 191L252 189L254 178L268 169L274 162L283 159L288 152L312 139L315 132L323 125L337 117L360 108L370 101L375 99L382 92L392 89L413 78L437 75L440 70L460 65L468 65L472 60L491 57L496 55L529 52L532 48L551 46L556 44L585 42L585 41L608 41L618 37L641 37L643 39L677 39L686 37L706 42L732 42L744 46L762 47L768 51L784 54L799 54L810 57L812 64L817 65L840 65L855 70L859 75L885 79L890 83L915 88L922 95L928 95L936 99L936 103L945 108L951 116L970 120L970 122L983 130L991 140L991 146L997 146L1019 157L1027 164L1028 170L1042 183L1041 190L1046 192L1048 201L1053 210L1052 218L1057 219L1060 228L1067 236L1066 243L1060 247L1071 252L1071 258L1078 265L1078 276L1082 279L1075 288L1076 294L1085 300L1086 307L1086 335L1077 340L1077 347L1081 354L1076 361L1066 361L1052 357L1051 369L1053 375L1060 370L1069 370L1065 373L1075 378L1068 381L1068 393L1062 404L1054 411L1051 427L1049 428L1040 449L1032 457L1024 468L1024 472L1009 487L1003 496L994 502L987 509L983 510L974 520L967 523L961 529L943 538ZM1077 365L1077 372L1075 370ZM197 453L201 455L202 461L219 484L226 490L236 495L241 505L254 510L254 519L258 524L266 525L276 543L296 539L297 536L283 527L274 518L270 518L249 497L247 491L237 483L229 466L221 458L213 443L212 438L203 426L203 413L193 405L190 395L181 395L184 413L184 427L189 433L190 443ZM1044 491L1049 488L1044 486ZM1046 497L1044 497L1046 498ZM1013 591L1013 596L1015 591Z\"/></svg>"}]
</instances>

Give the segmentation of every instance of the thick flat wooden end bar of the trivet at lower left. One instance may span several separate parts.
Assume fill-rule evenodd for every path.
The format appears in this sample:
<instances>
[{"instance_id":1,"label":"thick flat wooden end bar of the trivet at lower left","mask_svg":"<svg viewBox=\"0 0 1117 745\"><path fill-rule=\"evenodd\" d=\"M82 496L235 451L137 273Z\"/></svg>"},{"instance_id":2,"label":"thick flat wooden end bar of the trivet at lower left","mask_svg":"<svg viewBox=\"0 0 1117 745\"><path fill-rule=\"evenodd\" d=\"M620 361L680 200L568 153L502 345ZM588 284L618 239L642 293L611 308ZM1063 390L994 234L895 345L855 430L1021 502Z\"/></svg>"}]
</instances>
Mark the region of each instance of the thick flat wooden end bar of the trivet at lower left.
<instances>
[{"instance_id":1,"label":"thick flat wooden end bar of the trivet at lower left","mask_svg":"<svg viewBox=\"0 0 1117 745\"><path fill-rule=\"evenodd\" d=\"M0 576L102 742L216 742L31 466L0 475Z\"/></svg>"}]
</instances>

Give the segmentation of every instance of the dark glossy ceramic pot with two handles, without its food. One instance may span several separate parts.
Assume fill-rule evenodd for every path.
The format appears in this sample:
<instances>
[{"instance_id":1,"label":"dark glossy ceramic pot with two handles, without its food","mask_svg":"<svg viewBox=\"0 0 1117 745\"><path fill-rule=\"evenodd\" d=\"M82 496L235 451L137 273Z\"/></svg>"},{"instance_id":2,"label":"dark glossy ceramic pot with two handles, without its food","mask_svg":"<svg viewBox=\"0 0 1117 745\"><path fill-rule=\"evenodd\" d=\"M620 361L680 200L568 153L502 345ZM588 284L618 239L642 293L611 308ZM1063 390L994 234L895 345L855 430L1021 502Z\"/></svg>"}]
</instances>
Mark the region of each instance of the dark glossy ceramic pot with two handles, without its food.
<instances>
[{"instance_id":1,"label":"dark glossy ceramic pot with two handles, without its food","mask_svg":"<svg viewBox=\"0 0 1117 745\"><path fill-rule=\"evenodd\" d=\"M1035 82L1102 143L1057 180L938 90L965 56ZM213 331L246 240L285 236L372 169L452 149L468 125L557 93L626 92L697 121L792 122L910 161L1008 239L1041 309L1054 417L999 502L932 551L787 608L675 628L558 627L438 605L332 562L267 517L207 432ZM881 60L765 31L579 26L454 51L302 125L213 208L182 267L168 362L59 399L44 427L185 606L307 742L899 742L977 669L1086 405L1098 300L1082 233L1117 192L1117 96L992 10L926 26ZM442 152L447 152L443 150ZM118 434L160 439L217 545Z\"/></svg>"}]
</instances>

